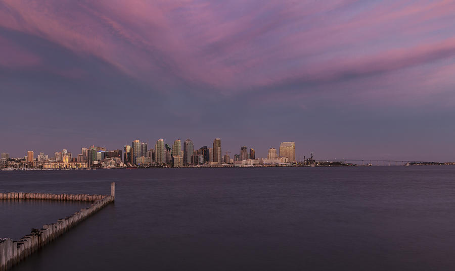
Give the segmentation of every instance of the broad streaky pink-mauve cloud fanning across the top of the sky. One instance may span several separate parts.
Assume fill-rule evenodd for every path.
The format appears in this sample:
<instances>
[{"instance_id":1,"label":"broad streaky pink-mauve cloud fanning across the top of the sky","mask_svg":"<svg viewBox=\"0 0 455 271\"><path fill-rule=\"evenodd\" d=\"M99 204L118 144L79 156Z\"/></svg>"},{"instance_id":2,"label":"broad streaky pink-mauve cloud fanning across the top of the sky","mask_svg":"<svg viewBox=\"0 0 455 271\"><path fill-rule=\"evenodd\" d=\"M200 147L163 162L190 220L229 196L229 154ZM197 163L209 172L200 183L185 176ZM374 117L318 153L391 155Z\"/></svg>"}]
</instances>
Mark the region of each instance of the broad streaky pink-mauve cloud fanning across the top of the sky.
<instances>
[{"instance_id":1,"label":"broad streaky pink-mauve cloud fanning across the top of the sky","mask_svg":"<svg viewBox=\"0 0 455 271\"><path fill-rule=\"evenodd\" d=\"M453 56L452 1L6 0L0 26L154 84L237 93L371 76ZM10 47L9 47L10 48Z\"/></svg>"}]
</instances>

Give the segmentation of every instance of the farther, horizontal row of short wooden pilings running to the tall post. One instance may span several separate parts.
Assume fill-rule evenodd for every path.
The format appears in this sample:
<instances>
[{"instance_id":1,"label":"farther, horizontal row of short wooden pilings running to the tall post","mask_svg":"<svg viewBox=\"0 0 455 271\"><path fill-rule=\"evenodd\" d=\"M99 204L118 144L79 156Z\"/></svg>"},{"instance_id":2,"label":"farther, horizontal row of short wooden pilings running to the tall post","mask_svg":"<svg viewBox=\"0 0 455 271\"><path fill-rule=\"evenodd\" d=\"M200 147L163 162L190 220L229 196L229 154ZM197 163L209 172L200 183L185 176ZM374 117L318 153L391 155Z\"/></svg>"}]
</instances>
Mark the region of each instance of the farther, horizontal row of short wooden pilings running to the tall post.
<instances>
[{"instance_id":1,"label":"farther, horizontal row of short wooden pilings running to the tall post","mask_svg":"<svg viewBox=\"0 0 455 271\"><path fill-rule=\"evenodd\" d=\"M103 197L105 197L105 195L22 193L22 192L0 193L0 200L40 199L40 200L66 200L66 201L96 201L96 200L101 200Z\"/></svg>"}]
</instances>

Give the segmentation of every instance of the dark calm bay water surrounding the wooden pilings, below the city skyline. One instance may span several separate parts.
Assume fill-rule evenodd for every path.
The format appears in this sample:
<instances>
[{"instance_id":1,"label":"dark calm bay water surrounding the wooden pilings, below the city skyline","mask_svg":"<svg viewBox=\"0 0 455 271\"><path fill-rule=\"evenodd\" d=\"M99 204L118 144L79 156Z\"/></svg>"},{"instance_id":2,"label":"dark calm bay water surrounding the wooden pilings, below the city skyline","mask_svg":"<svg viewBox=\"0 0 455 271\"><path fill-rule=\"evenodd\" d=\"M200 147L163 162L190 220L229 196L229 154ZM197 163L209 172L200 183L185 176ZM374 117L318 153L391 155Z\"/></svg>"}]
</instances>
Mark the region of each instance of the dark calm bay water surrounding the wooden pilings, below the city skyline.
<instances>
[{"instance_id":1,"label":"dark calm bay water surrounding the wooden pilings, below the city skyline","mask_svg":"<svg viewBox=\"0 0 455 271\"><path fill-rule=\"evenodd\" d=\"M108 194L111 181L115 204L14 270L455 269L450 166L0 172L0 191ZM0 207L4 237L80 208Z\"/></svg>"}]
</instances>

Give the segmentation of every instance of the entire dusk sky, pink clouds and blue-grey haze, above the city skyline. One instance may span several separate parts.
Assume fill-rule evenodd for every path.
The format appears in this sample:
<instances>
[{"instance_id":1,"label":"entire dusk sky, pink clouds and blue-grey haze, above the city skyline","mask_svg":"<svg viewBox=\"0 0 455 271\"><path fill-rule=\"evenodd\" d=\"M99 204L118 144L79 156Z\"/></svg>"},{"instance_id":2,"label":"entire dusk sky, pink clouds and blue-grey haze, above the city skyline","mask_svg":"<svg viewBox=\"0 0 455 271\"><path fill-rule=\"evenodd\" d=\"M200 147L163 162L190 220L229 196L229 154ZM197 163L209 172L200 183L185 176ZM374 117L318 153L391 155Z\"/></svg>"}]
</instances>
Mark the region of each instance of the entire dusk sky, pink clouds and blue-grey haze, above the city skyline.
<instances>
[{"instance_id":1,"label":"entire dusk sky, pink clouds and blue-grey haze, above the city skyline","mask_svg":"<svg viewBox=\"0 0 455 271\"><path fill-rule=\"evenodd\" d=\"M0 0L0 152L455 160L455 2Z\"/></svg>"}]
</instances>

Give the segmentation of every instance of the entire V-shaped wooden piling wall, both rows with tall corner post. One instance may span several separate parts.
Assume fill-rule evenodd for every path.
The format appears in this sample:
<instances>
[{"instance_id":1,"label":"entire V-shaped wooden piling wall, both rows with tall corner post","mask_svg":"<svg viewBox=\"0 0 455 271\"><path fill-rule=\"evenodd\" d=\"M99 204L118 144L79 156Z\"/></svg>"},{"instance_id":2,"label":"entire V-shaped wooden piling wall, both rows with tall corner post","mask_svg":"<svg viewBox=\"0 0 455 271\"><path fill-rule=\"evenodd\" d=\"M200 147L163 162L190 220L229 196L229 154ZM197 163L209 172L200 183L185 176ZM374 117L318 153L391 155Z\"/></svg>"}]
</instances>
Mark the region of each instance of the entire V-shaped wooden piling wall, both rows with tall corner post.
<instances>
[{"instance_id":1,"label":"entire V-shaped wooden piling wall, both rows with tall corner post","mask_svg":"<svg viewBox=\"0 0 455 271\"><path fill-rule=\"evenodd\" d=\"M6 196L5 196L6 195ZM19 241L11 238L0 238L0 271L5 271L18 264L21 260L50 243L77 223L114 202L115 183L111 184L110 195L87 195L87 194L49 194L49 193L0 193L0 200L16 199L42 199L42 200L71 200L92 201L87 208L80 209L56 223L43 225L41 229L32 229L30 234L22 237ZM1 227L1 225L0 225Z\"/></svg>"}]
</instances>

